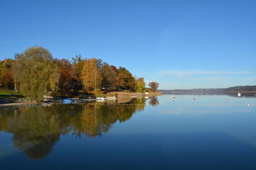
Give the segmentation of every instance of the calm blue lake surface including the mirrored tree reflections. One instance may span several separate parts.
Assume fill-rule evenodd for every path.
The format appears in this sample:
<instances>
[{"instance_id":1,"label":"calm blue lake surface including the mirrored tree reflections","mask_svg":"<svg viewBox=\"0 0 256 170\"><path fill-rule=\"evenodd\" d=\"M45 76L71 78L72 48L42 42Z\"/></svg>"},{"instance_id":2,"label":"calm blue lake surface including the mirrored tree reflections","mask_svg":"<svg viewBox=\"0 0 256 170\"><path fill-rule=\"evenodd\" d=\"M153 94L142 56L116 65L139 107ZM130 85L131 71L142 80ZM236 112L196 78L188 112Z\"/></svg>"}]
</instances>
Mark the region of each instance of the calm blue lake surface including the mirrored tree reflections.
<instances>
[{"instance_id":1,"label":"calm blue lake surface including the mirrored tree reflections","mask_svg":"<svg viewBox=\"0 0 256 170\"><path fill-rule=\"evenodd\" d=\"M256 97L129 104L0 109L0 169L256 169Z\"/></svg>"}]
</instances>

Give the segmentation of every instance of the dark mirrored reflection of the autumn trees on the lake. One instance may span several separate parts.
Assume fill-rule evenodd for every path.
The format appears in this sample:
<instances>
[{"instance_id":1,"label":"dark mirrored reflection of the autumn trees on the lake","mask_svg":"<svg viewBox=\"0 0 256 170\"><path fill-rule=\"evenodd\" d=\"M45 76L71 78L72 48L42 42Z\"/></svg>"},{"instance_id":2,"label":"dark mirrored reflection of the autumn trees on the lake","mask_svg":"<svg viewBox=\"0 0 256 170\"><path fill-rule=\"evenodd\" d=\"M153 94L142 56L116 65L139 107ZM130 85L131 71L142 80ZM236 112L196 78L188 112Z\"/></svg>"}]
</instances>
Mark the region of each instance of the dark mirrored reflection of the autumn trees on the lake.
<instances>
[{"instance_id":1,"label":"dark mirrored reflection of the autumn trees on the lake","mask_svg":"<svg viewBox=\"0 0 256 170\"><path fill-rule=\"evenodd\" d=\"M1 110L0 131L13 134L13 145L30 159L45 157L60 139L72 132L79 138L102 136L115 122L125 122L136 111L144 109L145 99L131 103L140 105L78 105L54 104Z\"/></svg>"}]
</instances>

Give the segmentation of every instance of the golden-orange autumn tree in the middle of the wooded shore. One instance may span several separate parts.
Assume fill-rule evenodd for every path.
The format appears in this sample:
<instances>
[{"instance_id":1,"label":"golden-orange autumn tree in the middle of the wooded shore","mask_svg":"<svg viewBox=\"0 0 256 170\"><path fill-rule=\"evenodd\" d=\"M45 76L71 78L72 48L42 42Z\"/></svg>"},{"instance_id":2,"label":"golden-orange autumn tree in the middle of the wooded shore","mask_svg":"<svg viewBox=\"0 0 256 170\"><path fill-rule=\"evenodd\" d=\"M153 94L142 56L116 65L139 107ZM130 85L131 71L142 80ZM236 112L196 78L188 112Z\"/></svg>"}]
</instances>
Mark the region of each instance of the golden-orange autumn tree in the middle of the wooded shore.
<instances>
[{"instance_id":1,"label":"golden-orange autumn tree in the middle of the wooded shore","mask_svg":"<svg viewBox=\"0 0 256 170\"><path fill-rule=\"evenodd\" d=\"M85 90L101 89L102 72L101 60L86 59L84 60L81 80Z\"/></svg>"}]
</instances>

